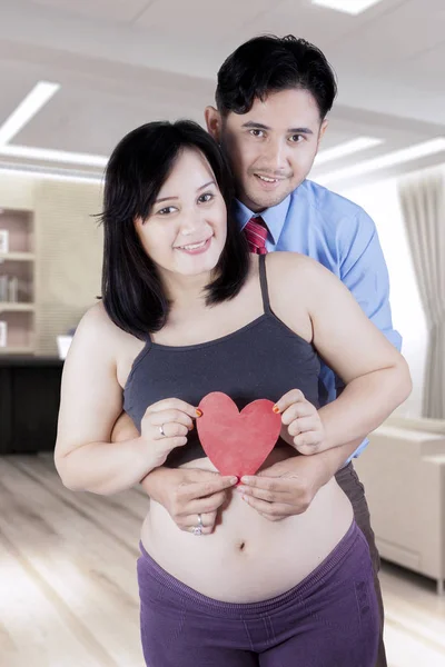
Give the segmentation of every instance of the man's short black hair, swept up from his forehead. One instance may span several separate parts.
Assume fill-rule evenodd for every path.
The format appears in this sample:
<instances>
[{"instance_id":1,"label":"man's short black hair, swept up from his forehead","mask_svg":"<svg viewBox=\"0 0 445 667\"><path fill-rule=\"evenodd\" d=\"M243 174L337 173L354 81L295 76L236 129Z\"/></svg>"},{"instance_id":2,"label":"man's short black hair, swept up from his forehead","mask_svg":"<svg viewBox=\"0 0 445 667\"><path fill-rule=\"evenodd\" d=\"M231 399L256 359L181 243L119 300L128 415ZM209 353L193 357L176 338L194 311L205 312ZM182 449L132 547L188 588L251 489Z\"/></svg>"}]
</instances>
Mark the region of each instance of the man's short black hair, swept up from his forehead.
<instances>
[{"instance_id":1,"label":"man's short black hair, swept up from his forehead","mask_svg":"<svg viewBox=\"0 0 445 667\"><path fill-rule=\"evenodd\" d=\"M247 113L256 99L293 88L308 90L315 98L320 120L337 94L335 74L325 54L293 34L255 37L238 47L218 72L216 103L227 116Z\"/></svg>"}]
</instances>

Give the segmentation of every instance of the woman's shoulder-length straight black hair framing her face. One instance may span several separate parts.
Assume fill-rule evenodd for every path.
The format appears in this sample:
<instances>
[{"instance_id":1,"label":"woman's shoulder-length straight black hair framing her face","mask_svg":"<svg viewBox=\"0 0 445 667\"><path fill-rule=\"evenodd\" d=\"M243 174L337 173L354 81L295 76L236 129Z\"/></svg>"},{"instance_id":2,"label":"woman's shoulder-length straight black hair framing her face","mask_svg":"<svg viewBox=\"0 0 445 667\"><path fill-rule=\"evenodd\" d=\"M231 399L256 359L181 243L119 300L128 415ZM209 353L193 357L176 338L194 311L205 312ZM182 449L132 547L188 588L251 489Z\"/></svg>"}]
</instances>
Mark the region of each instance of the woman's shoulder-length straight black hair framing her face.
<instances>
[{"instance_id":1,"label":"woman's shoulder-length straight black hair framing her face","mask_svg":"<svg viewBox=\"0 0 445 667\"><path fill-rule=\"evenodd\" d=\"M184 149L207 159L227 207L227 240L206 287L206 303L231 299L248 272L248 245L239 233L230 209L233 179L214 139L199 125L180 120L149 122L129 132L112 151L103 192L102 301L110 319L121 329L146 339L164 327L169 301L155 262L136 232L135 220L148 218L164 182Z\"/></svg>"}]
</instances>

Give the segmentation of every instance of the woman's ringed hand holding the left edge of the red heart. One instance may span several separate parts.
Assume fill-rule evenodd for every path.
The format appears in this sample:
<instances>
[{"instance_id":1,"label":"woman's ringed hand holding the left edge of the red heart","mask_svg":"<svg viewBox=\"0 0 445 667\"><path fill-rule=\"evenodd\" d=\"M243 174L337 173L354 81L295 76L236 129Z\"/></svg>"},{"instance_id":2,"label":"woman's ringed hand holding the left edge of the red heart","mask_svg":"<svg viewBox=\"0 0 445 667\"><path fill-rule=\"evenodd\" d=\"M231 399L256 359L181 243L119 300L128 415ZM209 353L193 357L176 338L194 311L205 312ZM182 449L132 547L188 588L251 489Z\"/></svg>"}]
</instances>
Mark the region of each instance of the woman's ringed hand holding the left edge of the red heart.
<instances>
[{"instance_id":1,"label":"woman's ringed hand holding the left edge of the red heart","mask_svg":"<svg viewBox=\"0 0 445 667\"><path fill-rule=\"evenodd\" d=\"M162 466L172 449L187 445L197 416L197 408L179 398L166 398L147 408L140 437L154 456L154 467Z\"/></svg>"}]
</instances>

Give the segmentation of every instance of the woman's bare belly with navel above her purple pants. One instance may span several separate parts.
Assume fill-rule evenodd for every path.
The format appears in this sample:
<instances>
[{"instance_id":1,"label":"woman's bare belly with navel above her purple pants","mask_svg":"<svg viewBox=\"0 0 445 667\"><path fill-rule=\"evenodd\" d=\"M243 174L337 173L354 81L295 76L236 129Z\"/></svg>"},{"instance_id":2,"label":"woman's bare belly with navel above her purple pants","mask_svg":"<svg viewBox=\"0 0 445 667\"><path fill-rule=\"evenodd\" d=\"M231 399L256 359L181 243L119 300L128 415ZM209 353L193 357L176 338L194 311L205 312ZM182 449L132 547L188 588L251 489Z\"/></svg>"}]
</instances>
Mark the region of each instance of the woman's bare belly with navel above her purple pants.
<instances>
[{"instance_id":1,"label":"woman's bare belly with navel above her purple pants","mask_svg":"<svg viewBox=\"0 0 445 667\"><path fill-rule=\"evenodd\" d=\"M287 458L275 449L265 467ZM187 468L215 470L209 459ZM141 531L150 556L187 586L227 603L254 603L289 590L334 549L353 521L353 508L335 479L300 515L269 521L233 490L211 535L180 530L151 500Z\"/></svg>"}]
</instances>

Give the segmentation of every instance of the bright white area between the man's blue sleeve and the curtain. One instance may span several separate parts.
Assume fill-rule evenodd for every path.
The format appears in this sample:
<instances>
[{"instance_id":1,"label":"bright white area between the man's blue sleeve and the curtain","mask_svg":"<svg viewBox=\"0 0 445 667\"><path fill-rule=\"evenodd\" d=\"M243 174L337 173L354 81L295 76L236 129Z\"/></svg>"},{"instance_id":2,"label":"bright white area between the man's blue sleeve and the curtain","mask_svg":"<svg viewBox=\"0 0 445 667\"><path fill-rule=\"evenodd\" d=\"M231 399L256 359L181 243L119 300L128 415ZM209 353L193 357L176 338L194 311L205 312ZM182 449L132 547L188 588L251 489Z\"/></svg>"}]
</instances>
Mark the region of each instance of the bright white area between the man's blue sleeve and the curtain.
<instances>
[{"instance_id":1,"label":"bright white area between the man's blue sleeve and the curtain","mask_svg":"<svg viewBox=\"0 0 445 667\"><path fill-rule=\"evenodd\" d=\"M414 382L413 394L397 411L419 417L427 328L398 202L397 180L338 191L362 206L376 223L389 271L393 321L403 336L402 351L409 364Z\"/></svg>"}]
</instances>

